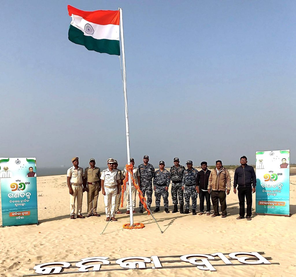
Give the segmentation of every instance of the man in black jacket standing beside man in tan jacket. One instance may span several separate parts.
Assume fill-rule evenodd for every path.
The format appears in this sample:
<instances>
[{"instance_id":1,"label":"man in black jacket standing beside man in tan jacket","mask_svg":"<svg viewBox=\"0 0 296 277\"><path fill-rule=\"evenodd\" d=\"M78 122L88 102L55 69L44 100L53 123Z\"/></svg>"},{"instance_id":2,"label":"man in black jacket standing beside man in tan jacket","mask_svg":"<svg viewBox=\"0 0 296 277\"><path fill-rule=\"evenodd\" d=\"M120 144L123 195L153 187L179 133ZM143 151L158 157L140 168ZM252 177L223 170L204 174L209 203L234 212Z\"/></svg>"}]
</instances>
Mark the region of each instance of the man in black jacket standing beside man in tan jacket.
<instances>
[{"instance_id":1,"label":"man in black jacket standing beside man in tan jacket","mask_svg":"<svg viewBox=\"0 0 296 277\"><path fill-rule=\"evenodd\" d=\"M211 171L207 169L207 162L200 163L202 166L202 170L198 172L196 178L196 185L198 187L198 192L200 195L200 213L199 215L204 214L205 202L207 203L207 216L210 215L211 211L211 195L207 190L207 186L209 184L209 177Z\"/></svg>"}]
</instances>

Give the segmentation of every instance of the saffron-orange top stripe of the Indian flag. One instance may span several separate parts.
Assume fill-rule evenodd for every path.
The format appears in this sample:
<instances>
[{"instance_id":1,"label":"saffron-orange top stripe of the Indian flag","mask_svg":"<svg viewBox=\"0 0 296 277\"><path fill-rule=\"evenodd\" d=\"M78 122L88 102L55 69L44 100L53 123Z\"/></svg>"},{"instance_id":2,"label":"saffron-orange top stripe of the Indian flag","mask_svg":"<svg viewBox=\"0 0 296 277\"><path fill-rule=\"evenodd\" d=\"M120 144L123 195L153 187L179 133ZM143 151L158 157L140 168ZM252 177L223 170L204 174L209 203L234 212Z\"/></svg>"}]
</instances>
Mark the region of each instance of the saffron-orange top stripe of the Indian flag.
<instances>
[{"instance_id":1,"label":"saffron-orange top stripe of the Indian flag","mask_svg":"<svg viewBox=\"0 0 296 277\"><path fill-rule=\"evenodd\" d=\"M95 24L119 25L119 19L120 19L120 12L119 11L99 10L99 11L87 12L87 11L82 11L80 9L76 9L75 7L68 5L68 12L69 12L70 16L72 16L72 14L75 14L75 15L83 17L86 21L89 21L89 22L92 22Z\"/></svg>"}]
</instances>

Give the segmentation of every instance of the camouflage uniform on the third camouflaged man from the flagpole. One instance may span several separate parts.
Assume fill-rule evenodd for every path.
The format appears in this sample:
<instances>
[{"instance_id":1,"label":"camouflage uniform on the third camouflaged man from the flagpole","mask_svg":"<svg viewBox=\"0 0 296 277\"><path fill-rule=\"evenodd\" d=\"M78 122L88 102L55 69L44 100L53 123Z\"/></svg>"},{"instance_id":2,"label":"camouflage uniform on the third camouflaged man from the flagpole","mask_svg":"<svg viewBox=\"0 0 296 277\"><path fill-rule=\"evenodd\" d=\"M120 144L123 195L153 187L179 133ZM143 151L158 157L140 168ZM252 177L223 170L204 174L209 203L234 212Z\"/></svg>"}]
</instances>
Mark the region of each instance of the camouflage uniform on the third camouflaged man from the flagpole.
<instances>
[{"instance_id":1,"label":"camouflage uniform on the third camouflaged man from the flagpole","mask_svg":"<svg viewBox=\"0 0 296 277\"><path fill-rule=\"evenodd\" d=\"M184 174L185 167L179 165L176 167L175 165L170 168L170 179L172 180L172 200L174 205L178 205L179 196L179 204L184 205L184 191L182 189L182 178Z\"/></svg>"}]
</instances>

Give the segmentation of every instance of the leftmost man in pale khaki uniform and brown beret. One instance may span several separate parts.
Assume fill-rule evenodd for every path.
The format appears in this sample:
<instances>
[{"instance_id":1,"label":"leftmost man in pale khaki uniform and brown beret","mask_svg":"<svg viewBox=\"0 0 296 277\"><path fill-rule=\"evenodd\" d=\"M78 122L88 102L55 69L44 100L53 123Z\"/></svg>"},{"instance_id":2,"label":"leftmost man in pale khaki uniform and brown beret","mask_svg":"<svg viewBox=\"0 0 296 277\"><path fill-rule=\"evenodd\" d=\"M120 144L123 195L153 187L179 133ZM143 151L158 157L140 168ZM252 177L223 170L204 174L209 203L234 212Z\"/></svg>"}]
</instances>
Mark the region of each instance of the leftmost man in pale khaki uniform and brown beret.
<instances>
[{"instance_id":1,"label":"leftmost man in pale khaki uniform and brown beret","mask_svg":"<svg viewBox=\"0 0 296 277\"><path fill-rule=\"evenodd\" d=\"M78 157L72 158L73 166L67 170L67 185L70 193L70 215L75 219L75 199L77 199L77 218L85 218L81 214L82 196L88 188L84 182L83 169L78 166Z\"/></svg>"}]
</instances>

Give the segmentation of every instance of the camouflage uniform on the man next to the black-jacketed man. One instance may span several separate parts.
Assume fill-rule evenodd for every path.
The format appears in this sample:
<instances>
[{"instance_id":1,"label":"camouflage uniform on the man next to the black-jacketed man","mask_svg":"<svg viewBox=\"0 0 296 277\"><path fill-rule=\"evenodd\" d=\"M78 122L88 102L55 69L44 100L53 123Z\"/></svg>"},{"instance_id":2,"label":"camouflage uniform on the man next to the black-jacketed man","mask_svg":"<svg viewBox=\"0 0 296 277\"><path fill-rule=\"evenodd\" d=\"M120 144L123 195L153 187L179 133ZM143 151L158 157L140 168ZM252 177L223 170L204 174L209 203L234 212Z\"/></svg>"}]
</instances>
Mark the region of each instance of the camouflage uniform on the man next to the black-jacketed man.
<instances>
[{"instance_id":1,"label":"camouflage uniform on the man next to the black-jacketed man","mask_svg":"<svg viewBox=\"0 0 296 277\"><path fill-rule=\"evenodd\" d=\"M192 168L191 170L185 169L182 186L184 187L184 198L185 198L185 209L189 209L190 207L190 197L192 201L192 209L196 209L196 178L197 178L198 170Z\"/></svg>"}]
</instances>

